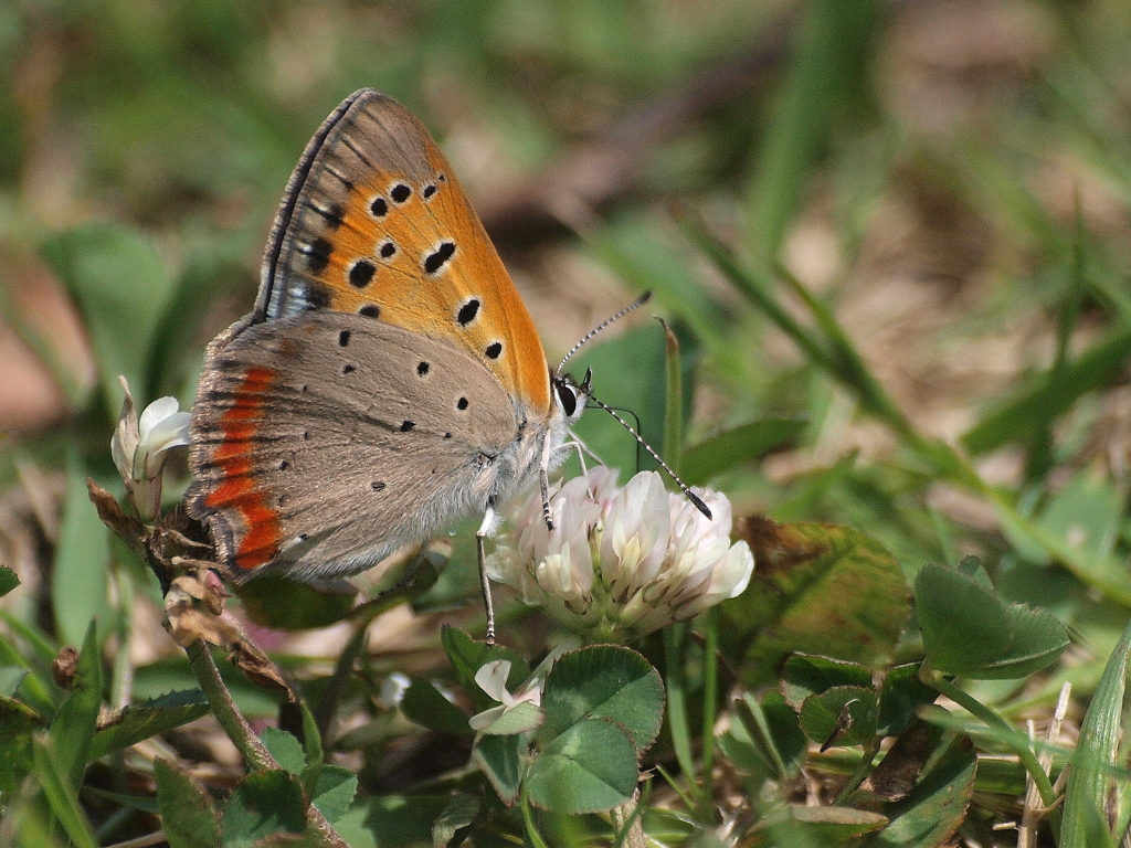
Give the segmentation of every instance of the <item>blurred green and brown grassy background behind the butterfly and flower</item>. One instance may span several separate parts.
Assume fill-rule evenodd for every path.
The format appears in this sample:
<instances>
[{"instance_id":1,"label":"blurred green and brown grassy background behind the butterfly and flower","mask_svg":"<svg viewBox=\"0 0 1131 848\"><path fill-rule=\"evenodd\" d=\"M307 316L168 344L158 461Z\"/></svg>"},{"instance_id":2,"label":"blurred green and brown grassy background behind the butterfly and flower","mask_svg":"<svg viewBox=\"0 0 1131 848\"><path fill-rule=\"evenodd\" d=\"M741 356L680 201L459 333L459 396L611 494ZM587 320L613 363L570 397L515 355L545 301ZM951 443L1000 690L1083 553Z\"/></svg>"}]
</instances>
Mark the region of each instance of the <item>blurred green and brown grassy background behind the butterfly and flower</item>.
<instances>
[{"instance_id":1,"label":"blurred green and brown grassy background behind the butterfly and flower","mask_svg":"<svg viewBox=\"0 0 1131 848\"><path fill-rule=\"evenodd\" d=\"M81 479L112 481L116 375L191 400L308 138L373 86L441 140L553 361L657 291L688 442L732 434L689 477L736 513L861 527L908 573L978 553L1063 606L1096 580L1011 522L1082 509L1089 556L1126 546L1129 24L1116 0L6 3L5 556L58 579ZM621 329L597 389L663 444L662 335ZM68 638L103 599L63 597L101 579L53 589Z\"/></svg>"}]
</instances>

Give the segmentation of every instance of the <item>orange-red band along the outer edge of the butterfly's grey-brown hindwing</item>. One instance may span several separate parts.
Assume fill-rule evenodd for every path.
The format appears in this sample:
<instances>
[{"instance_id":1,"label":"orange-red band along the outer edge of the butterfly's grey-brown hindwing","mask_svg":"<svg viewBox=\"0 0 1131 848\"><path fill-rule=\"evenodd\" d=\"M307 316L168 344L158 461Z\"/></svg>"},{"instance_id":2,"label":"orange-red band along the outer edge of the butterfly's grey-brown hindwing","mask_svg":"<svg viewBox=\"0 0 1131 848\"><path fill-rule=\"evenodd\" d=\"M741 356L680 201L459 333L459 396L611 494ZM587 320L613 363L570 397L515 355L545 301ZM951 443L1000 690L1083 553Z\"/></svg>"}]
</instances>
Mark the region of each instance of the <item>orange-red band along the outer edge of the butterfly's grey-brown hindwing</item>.
<instances>
[{"instance_id":1,"label":"orange-red band along the outer edge of the butterfly's grey-brown hindwing","mask_svg":"<svg viewBox=\"0 0 1131 848\"><path fill-rule=\"evenodd\" d=\"M277 378L278 373L271 369L248 370L231 407L221 416L224 441L210 457L224 479L205 497L205 505L240 514L245 531L235 537L233 564L244 571L270 562L283 543L279 514L269 503L269 493L256 484L253 456L264 401Z\"/></svg>"}]
</instances>

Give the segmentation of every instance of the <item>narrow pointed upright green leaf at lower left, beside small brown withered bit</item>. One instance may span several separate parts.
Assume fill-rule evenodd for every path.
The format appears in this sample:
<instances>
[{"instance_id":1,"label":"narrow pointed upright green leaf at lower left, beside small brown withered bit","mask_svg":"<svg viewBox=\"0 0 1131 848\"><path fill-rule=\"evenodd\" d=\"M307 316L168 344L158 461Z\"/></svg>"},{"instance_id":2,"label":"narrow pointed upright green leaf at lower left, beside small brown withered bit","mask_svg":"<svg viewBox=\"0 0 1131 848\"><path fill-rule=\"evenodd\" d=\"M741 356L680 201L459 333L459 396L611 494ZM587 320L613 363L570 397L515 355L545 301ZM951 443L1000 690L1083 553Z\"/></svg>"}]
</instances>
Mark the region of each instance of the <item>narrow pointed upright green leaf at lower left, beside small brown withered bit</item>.
<instances>
[{"instance_id":1,"label":"narrow pointed upright green leaf at lower left, beside small brown withered bit","mask_svg":"<svg viewBox=\"0 0 1131 848\"><path fill-rule=\"evenodd\" d=\"M51 720L51 741L59 768L78 791L86 765L90 762L90 745L102 708L102 646L95 622L86 630L79 651L78 668L70 692Z\"/></svg>"}]
</instances>

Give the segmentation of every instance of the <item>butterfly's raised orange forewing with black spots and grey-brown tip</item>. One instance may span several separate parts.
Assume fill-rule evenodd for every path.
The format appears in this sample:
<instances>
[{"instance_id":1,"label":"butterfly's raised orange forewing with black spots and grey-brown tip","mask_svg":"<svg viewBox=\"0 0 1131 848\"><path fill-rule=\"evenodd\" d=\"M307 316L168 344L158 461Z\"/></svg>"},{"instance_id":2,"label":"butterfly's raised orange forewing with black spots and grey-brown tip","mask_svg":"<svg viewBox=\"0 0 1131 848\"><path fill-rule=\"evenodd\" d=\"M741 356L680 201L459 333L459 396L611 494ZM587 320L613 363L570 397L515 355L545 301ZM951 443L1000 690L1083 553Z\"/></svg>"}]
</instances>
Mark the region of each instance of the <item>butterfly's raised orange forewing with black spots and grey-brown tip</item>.
<instances>
[{"instance_id":1,"label":"butterfly's raised orange forewing with black spots and grey-brown tip","mask_svg":"<svg viewBox=\"0 0 1131 848\"><path fill-rule=\"evenodd\" d=\"M524 413L550 412L534 322L451 166L408 110L372 89L323 122L295 168L252 320L320 309L447 339Z\"/></svg>"}]
</instances>

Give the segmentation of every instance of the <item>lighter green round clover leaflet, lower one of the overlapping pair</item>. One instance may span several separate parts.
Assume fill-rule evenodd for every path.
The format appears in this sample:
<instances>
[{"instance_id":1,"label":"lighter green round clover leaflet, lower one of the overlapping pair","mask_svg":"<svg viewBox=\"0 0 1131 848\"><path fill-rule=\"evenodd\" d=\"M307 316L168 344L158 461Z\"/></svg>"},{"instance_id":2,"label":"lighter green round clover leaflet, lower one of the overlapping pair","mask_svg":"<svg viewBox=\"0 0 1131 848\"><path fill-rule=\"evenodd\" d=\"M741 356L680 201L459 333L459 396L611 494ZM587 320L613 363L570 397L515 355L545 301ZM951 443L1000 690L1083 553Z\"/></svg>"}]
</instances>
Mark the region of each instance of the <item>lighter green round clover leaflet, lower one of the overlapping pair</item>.
<instances>
[{"instance_id":1,"label":"lighter green round clover leaflet, lower one of the overlapping pair","mask_svg":"<svg viewBox=\"0 0 1131 848\"><path fill-rule=\"evenodd\" d=\"M607 719L584 720L546 745L530 764L530 803L555 813L612 810L636 790L637 749L624 728Z\"/></svg>"}]
</instances>

